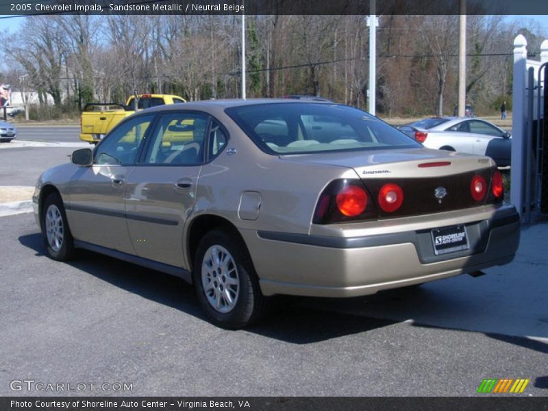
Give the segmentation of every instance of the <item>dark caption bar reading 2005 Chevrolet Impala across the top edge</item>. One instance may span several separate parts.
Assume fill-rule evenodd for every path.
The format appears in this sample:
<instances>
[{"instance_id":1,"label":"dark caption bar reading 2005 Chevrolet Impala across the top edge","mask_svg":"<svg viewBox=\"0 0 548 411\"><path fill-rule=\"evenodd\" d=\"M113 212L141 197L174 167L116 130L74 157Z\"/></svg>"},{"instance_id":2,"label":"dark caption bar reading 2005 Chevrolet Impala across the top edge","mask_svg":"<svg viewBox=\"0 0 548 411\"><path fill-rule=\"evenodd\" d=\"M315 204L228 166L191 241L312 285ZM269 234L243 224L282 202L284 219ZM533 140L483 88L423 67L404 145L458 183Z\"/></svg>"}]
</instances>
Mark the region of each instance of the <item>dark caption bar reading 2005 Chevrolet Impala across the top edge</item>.
<instances>
[{"instance_id":1,"label":"dark caption bar reading 2005 Chevrolet Impala across the top edge","mask_svg":"<svg viewBox=\"0 0 548 411\"><path fill-rule=\"evenodd\" d=\"M0 0L0 15L366 15L372 0ZM460 14L460 0L377 0L375 14ZM466 0L468 15L548 14L546 0Z\"/></svg>"}]
</instances>

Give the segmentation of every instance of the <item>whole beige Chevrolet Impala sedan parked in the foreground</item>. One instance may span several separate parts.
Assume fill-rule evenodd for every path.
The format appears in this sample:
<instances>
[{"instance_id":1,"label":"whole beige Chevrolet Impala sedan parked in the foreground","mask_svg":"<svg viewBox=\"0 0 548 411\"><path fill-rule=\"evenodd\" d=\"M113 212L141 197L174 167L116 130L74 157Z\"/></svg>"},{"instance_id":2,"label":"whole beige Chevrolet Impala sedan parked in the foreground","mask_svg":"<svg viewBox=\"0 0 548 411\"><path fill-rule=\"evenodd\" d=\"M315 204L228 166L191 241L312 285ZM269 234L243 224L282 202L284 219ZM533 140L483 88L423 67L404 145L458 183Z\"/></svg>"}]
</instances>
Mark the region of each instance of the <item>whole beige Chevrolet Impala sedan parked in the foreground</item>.
<instances>
[{"instance_id":1,"label":"whole beige Chevrolet Impala sedan parked in the foreground","mask_svg":"<svg viewBox=\"0 0 548 411\"><path fill-rule=\"evenodd\" d=\"M316 101L186 103L128 117L42 174L51 258L90 249L195 284L214 323L269 297L367 295L514 258L519 214L490 158L425 149Z\"/></svg>"}]
</instances>

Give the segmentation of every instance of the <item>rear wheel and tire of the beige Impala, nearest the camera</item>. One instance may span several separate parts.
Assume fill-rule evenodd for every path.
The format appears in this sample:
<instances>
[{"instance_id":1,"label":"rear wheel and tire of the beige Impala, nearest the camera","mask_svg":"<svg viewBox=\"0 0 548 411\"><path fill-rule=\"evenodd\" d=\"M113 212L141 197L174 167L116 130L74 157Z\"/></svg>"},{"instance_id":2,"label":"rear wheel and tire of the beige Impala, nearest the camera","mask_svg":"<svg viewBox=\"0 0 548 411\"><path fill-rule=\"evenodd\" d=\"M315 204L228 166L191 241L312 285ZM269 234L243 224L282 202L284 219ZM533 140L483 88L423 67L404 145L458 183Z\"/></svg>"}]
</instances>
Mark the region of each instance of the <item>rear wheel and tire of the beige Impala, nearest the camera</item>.
<instances>
[{"instance_id":1,"label":"rear wheel and tire of the beige Impala, nearest the camera","mask_svg":"<svg viewBox=\"0 0 548 411\"><path fill-rule=\"evenodd\" d=\"M269 305L247 247L235 233L214 230L203 236L192 282L209 319L223 328L240 329L256 323Z\"/></svg>"}]
</instances>

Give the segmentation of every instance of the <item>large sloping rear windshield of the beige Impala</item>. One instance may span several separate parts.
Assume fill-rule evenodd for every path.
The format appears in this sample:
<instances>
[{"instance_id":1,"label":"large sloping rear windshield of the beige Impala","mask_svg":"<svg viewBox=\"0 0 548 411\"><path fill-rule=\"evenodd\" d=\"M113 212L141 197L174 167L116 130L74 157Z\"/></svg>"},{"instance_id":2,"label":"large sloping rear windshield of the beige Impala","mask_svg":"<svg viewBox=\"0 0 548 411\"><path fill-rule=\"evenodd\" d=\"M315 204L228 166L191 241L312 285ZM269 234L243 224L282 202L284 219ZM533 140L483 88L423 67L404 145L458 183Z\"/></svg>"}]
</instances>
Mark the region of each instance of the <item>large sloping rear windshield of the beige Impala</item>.
<instances>
[{"instance_id":1,"label":"large sloping rear windshield of the beige Impala","mask_svg":"<svg viewBox=\"0 0 548 411\"><path fill-rule=\"evenodd\" d=\"M377 117L347 105L266 103L225 111L271 154L421 147Z\"/></svg>"}]
</instances>

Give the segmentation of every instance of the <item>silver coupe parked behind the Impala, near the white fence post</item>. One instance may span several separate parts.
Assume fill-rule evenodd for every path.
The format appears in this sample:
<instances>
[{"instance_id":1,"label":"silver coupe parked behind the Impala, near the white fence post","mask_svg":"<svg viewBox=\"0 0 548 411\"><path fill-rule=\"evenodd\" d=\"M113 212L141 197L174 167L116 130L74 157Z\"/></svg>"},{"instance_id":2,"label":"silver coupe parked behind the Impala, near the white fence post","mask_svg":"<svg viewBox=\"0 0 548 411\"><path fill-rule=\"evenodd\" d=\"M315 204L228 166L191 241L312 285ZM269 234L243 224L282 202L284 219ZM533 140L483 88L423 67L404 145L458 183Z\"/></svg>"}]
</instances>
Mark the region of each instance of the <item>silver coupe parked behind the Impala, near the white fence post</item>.
<instances>
[{"instance_id":1,"label":"silver coupe parked behind the Impala, near the white fence post","mask_svg":"<svg viewBox=\"0 0 548 411\"><path fill-rule=\"evenodd\" d=\"M434 117L398 127L430 149L487 155L497 166L510 166L510 133L481 119Z\"/></svg>"}]
</instances>

